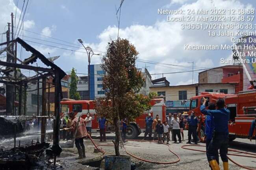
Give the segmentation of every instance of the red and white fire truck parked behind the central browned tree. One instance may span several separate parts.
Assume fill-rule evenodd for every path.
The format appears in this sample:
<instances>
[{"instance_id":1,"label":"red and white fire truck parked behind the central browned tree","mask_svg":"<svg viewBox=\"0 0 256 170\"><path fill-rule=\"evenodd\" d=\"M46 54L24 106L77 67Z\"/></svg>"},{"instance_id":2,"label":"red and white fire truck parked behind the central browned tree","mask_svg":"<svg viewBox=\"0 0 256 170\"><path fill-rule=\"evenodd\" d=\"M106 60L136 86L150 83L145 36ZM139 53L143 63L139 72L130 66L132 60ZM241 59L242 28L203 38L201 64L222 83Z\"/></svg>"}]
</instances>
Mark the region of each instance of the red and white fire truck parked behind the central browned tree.
<instances>
[{"instance_id":1,"label":"red and white fire truck parked behind the central browned tree","mask_svg":"<svg viewBox=\"0 0 256 170\"><path fill-rule=\"evenodd\" d=\"M150 101L152 108L150 110L145 111L141 116L135 119L134 122L130 122L127 126L127 139L134 139L139 136L141 132L145 132L145 118L148 113L151 114L153 118L156 115L159 115L159 118L162 121L165 121L165 104L163 99L152 99ZM93 118L92 121L92 132L99 132L98 129L98 119L99 115L95 112L95 101L93 100L67 100L61 101L61 112L62 114L67 114L68 112L73 111L76 116L82 116L82 118L86 118L87 113L91 114ZM106 132L114 132L112 125L107 125Z\"/></svg>"}]
</instances>

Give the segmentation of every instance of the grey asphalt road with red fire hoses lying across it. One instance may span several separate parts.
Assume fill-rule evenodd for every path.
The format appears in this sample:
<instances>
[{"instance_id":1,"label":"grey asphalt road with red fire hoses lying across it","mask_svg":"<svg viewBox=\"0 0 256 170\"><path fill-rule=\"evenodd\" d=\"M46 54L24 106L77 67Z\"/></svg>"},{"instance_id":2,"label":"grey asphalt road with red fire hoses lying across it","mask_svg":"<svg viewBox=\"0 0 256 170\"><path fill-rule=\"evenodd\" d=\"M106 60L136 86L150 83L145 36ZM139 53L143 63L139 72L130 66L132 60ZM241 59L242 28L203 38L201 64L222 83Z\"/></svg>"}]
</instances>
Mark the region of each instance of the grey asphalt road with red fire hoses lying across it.
<instances>
[{"instance_id":1,"label":"grey asphalt road with red fire hoses lying across it","mask_svg":"<svg viewBox=\"0 0 256 170\"><path fill-rule=\"evenodd\" d=\"M111 140L114 139L115 134L107 134L107 142L100 143L98 141L99 134L93 134L95 142L99 144L112 144ZM143 133L137 137L137 139L143 139ZM182 145L186 145L187 142L187 131L184 131L184 139L182 143L172 143L170 142L170 147L173 152L180 156L180 162L169 164L169 165L159 165L153 163L145 163L140 162L137 159L132 159L138 163L137 169L138 170L148 170L148 169L176 169L176 170L205 170L210 169L208 161L206 159L205 152L197 152L192 150L185 150L181 148ZM199 143L200 145L205 145L204 143ZM91 141L86 140L85 145L89 150L92 150L94 146L92 145ZM168 150L168 146L152 143L152 142L137 142L137 141L128 141L125 143L126 150L131 154L139 156L143 159L148 159L152 161L161 161L161 162L168 162L168 161L175 161L177 158ZM205 150L204 147L194 147L190 146L191 148ZM253 152L256 153L256 146L255 141L250 142L249 139L235 139L235 141L230 142L229 148L241 150L245 152ZM102 146L103 150L106 150L107 154L114 154L113 146ZM120 148L121 154L126 154L124 149ZM232 152L229 152L232 153ZM234 153L234 152L233 152ZM249 158L249 157L238 157L238 156L230 156L230 158L234 159L237 163L248 166L251 168L256 168L256 158ZM230 170L242 170L234 163L230 163ZM222 162L220 163L221 169Z\"/></svg>"}]
</instances>

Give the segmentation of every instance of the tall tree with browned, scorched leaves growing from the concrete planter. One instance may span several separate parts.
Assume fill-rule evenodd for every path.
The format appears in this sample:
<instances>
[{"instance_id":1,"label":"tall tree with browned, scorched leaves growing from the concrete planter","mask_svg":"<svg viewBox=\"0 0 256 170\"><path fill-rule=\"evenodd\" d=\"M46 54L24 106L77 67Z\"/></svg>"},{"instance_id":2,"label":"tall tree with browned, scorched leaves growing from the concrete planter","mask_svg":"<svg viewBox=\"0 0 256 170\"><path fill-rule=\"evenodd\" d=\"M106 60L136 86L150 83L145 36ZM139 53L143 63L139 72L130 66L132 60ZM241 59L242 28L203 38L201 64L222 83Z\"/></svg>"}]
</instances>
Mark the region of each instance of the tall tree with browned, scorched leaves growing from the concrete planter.
<instances>
[{"instance_id":1,"label":"tall tree with browned, scorched leaves growing from the concrete planter","mask_svg":"<svg viewBox=\"0 0 256 170\"><path fill-rule=\"evenodd\" d=\"M138 52L126 39L108 43L106 55L102 58L103 90L106 97L96 100L97 114L103 114L115 127L115 155L120 156L120 120L133 121L145 110L151 108L149 96L138 94L144 78L135 67Z\"/></svg>"}]
</instances>

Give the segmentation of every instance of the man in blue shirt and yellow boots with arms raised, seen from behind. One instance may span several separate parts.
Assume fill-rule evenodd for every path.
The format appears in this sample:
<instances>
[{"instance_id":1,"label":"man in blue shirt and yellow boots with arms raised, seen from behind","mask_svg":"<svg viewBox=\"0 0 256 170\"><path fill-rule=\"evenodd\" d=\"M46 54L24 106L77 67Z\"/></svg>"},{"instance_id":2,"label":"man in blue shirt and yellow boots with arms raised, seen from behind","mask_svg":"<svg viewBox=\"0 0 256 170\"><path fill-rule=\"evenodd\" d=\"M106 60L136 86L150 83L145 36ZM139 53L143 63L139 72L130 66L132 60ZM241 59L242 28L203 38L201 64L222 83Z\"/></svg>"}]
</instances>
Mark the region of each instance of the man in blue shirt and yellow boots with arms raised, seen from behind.
<instances>
[{"instance_id":1,"label":"man in blue shirt and yellow boots with arms raised, seen from behind","mask_svg":"<svg viewBox=\"0 0 256 170\"><path fill-rule=\"evenodd\" d=\"M213 170L220 170L216 158L216 150L220 150L221 160L223 161L224 170L228 170L228 121L230 111L225 109L224 99L217 99L217 110L206 110L205 103L208 99L203 98L203 104L200 107L202 114L212 115L214 117L215 130L208 147L207 159Z\"/></svg>"}]
</instances>

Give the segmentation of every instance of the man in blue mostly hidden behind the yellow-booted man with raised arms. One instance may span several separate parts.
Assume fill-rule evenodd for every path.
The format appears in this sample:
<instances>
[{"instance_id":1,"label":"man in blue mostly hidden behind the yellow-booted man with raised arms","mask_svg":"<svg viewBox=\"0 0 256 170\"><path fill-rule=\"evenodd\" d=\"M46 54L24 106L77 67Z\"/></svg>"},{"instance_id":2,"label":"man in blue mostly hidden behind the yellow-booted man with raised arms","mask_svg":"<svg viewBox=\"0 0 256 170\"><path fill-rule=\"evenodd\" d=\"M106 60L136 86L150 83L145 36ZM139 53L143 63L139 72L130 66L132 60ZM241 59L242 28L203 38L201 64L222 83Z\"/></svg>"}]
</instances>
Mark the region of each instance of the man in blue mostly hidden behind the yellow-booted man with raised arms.
<instances>
[{"instance_id":1,"label":"man in blue mostly hidden behind the yellow-booted man with raised arms","mask_svg":"<svg viewBox=\"0 0 256 170\"><path fill-rule=\"evenodd\" d=\"M215 110L215 103L209 103L208 106L209 110ZM212 139L212 134L213 134L213 130L215 128L214 125L214 117L212 115L207 115L206 119L205 119L205 140L206 140L206 156L208 156L208 147L210 145L211 139ZM218 150L216 150L216 161L219 164L219 153ZM211 165L209 164L210 168Z\"/></svg>"}]
</instances>

